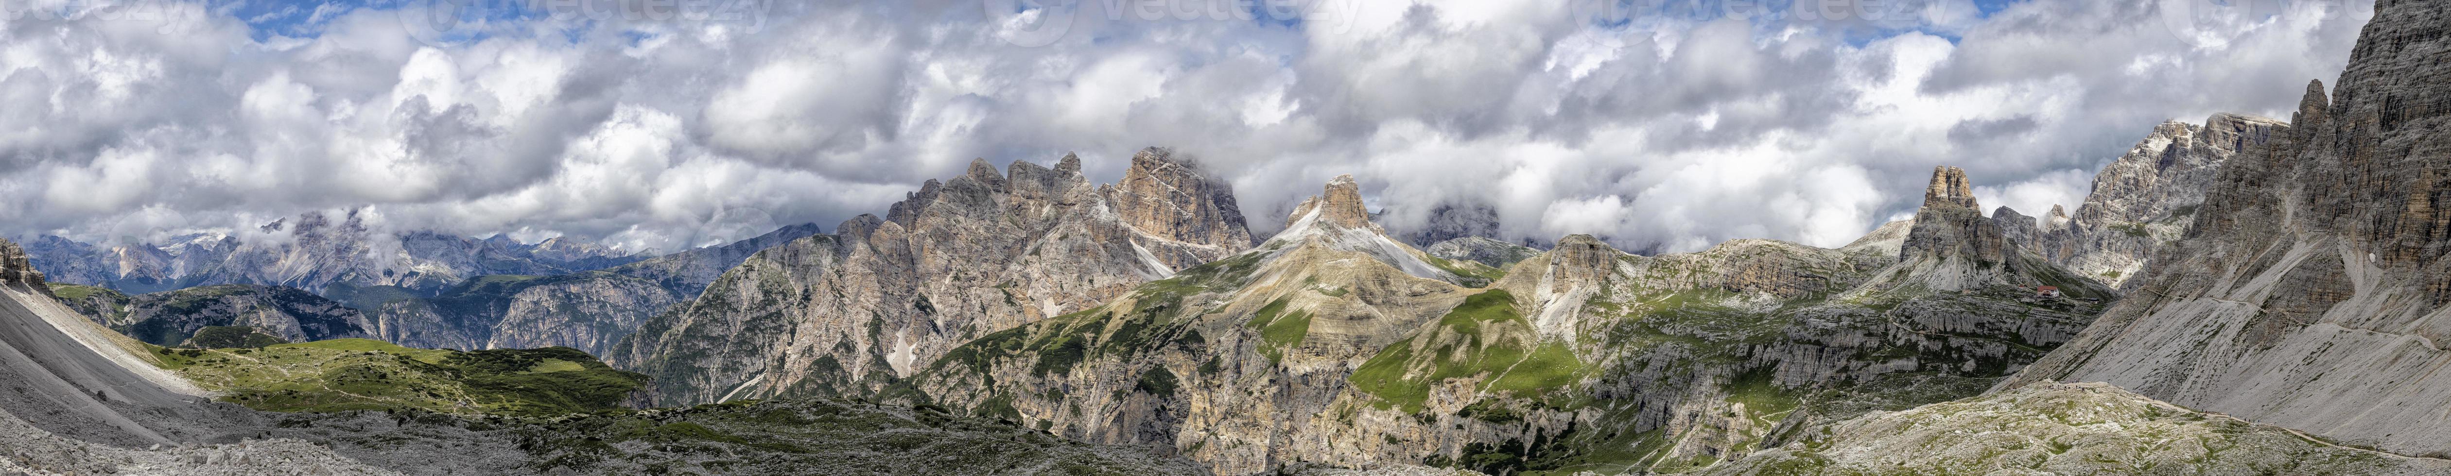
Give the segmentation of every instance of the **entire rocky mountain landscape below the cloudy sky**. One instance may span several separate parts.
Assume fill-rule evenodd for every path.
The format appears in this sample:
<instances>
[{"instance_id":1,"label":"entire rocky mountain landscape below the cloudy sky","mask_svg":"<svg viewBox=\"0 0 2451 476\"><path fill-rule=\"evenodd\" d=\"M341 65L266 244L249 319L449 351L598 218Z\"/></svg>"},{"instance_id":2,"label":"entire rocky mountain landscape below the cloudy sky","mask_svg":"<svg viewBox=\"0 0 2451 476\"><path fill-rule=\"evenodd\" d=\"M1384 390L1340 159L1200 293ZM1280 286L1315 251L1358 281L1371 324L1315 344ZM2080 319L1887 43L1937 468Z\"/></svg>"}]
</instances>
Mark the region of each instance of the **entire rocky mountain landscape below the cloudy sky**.
<instances>
[{"instance_id":1,"label":"entire rocky mountain landscape below the cloudy sky","mask_svg":"<svg viewBox=\"0 0 2451 476\"><path fill-rule=\"evenodd\" d=\"M1936 167L1841 248L1390 231L1351 174L1255 236L1162 147L659 258L0 240L0 474L2451 474L2444 52L2382 0L2287 123L2039 218Z\"/></svg>"}]
</instances>

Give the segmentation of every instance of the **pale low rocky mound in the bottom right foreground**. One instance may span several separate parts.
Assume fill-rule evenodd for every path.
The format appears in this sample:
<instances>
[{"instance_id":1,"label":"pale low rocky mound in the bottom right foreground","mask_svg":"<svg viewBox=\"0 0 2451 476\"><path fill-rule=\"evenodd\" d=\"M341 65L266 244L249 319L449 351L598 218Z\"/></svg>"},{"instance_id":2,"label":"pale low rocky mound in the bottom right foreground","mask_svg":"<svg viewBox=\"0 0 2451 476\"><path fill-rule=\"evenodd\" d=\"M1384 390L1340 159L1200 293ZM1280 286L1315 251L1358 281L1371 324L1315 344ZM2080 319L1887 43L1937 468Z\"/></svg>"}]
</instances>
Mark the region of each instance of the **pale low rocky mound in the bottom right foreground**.
<instances>
[{"instance_id":1,"label":"pale low rocky mound in the bottom right foreground","mask_svg":"<svg viewBox=\"0 0 2451 476\"><path fill-rule=\"evenodd\" d=\"M2451 474L2409 459L2157 402L2101 383L2027 388L1833 424L1706 476L1855 474Z\"/></svg>"}]
</instances>

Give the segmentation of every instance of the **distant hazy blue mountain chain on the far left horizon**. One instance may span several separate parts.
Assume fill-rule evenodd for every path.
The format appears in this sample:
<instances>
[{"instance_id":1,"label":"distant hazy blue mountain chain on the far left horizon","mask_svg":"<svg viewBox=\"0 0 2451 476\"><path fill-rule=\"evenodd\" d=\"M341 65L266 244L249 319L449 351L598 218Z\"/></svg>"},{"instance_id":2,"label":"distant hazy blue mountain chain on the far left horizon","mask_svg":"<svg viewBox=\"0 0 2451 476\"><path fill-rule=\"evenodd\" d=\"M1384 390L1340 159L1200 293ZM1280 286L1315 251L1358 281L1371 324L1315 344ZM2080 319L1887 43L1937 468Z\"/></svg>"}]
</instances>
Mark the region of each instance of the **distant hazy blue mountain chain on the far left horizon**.
<instances>
[{"instance_id":1,"label":"distant hazy blue mountain chain on the far left horizon","mask_svg":"<svg viewBox=\"0 0 2451 476\"><path fill-rule=\"evenodd\" d=\"M34 240L34 265L61 270L59 282L130 294L203 285L272 285L326 294L336 285L441 292L478 275L564 275L645 260L596 243L554 238L520 245L507 238L441 233L375 233L358 211L338 221L304 213L262 226L272 238L179 236L167 245L98 248L56 236Z\"/></svg>"}]
</instances>

